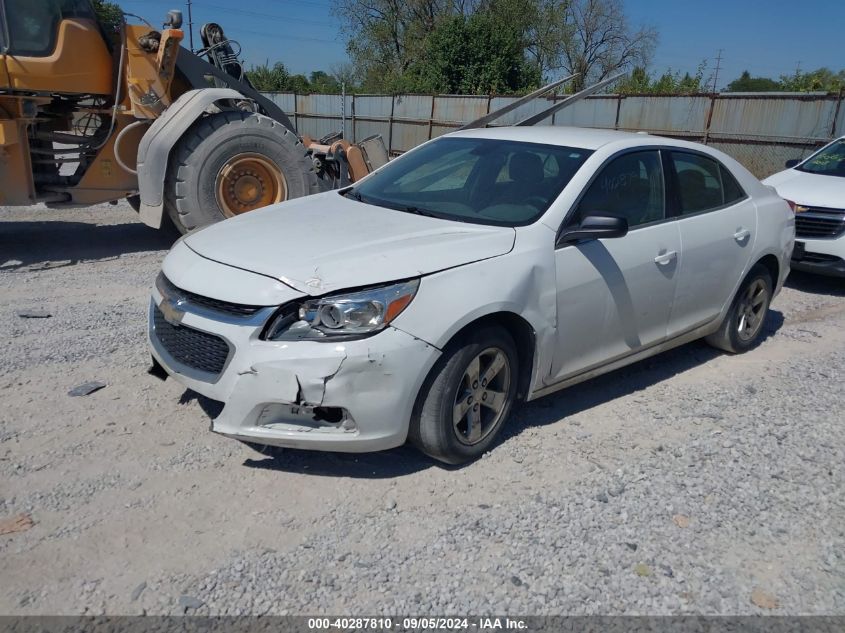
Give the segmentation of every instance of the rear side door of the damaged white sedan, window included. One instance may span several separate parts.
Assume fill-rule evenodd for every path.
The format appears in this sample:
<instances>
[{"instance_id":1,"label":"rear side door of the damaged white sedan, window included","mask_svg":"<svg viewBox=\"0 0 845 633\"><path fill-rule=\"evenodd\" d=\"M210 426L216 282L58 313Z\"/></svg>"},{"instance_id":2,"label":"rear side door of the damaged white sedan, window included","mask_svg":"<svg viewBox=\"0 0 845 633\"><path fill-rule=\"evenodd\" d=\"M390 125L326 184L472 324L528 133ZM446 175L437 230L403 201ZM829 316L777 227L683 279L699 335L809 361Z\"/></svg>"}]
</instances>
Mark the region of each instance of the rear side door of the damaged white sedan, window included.
<instances>
[{"instance_id":1,"label":"rear side door of the damaged white sedan, window included","mask_svg":"<svg viewBox=\"0 0 845 633\"><path fill-rule=\"evenodd\" d=\"M669 336L716 318L748 269L757 209L730 171L704 154L669 153L683 253Z\"/></svg>"}]
</instances>

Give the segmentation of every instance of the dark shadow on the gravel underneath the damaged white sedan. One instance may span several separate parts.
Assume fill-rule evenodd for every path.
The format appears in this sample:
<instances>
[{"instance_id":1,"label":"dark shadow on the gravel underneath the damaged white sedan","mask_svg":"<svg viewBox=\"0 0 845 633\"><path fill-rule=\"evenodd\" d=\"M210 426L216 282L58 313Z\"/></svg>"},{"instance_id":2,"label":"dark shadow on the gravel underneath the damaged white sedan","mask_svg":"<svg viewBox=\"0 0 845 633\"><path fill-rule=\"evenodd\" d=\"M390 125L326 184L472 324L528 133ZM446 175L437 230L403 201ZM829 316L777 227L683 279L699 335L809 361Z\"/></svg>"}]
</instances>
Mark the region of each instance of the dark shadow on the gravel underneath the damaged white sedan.
<instances>
[{"instance_id":1,"label":"dark shadow on the gravel underneath the damaged white sedan","mask_svg":"<svg viewBox=\"0 0 845 633\"><path fill-rule=\"evenodd\" d=\"M761 342L774 336L783 326L783 313L770 310L766 318ZM749 352L753 354L754 352ZM696 341L639 363L617 369L604 376L593 378L554 395L517 407L509 424L502 433L498 445L522 433L532 426L543 426L576 415L587 409L632 394L657 383L668 380L699 365L707 363L722 352ZM196 400L209 417L219 415L222 403L210 400L187 390L180 399L181 404ZM441 464L410 446L401 446L379 453L328 453L282 449L270 446L248 444L256 451L256 457L244 461L247 468L276 470L322 477L351 477L355 479L388 479L401 477L428 468L459 470L460 466ZM495 448L493 450L496 450Z\"/></svg>"}]
</instances>

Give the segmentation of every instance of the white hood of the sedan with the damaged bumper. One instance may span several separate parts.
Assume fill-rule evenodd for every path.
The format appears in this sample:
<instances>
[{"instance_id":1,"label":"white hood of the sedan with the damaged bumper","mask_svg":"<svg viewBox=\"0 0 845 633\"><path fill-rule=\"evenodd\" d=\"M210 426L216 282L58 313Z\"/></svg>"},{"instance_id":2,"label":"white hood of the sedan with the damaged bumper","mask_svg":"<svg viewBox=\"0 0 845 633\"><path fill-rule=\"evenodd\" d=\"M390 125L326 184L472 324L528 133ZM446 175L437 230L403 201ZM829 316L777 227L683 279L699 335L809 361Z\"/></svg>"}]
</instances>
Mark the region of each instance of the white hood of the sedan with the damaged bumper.
<instances>
[{"instance_id":1,"label":"white hood of the sedan with the damaged bumper","mask_svg":"<svg viewBox=\"0 0 845 633\"><path fill-rule=\"evenodd\" d=\"M252 211L185 244L310 295L406 279L504 255L516 231L385 209L336 191Z\"/></svg>"}]
</instances>

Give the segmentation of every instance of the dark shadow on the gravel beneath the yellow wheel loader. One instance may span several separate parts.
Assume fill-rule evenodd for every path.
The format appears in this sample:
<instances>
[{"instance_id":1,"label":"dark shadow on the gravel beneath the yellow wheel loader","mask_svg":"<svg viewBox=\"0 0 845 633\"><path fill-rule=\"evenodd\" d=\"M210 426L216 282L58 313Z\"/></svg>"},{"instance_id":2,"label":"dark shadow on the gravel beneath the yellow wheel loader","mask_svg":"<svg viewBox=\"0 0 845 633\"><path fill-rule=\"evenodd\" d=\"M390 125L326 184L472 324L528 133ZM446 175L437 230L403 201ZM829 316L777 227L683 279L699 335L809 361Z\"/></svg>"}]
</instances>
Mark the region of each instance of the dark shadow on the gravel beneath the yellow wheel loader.
<instances>
[{"instance_id":1,"label":"dark shadow on the gravel beneath the yellow wheel loader","mask_svg":"<svg viewBox=\"0 0 845 633\"><path fill-rule=\"evenodd\" d=\"M90 222L2 222L0 265L4 271L43 265L73 266L85 260L117 258L127 253L146 253L170 248L175 237L140 222L92 225Z\"/></svg>"}]
</instances>

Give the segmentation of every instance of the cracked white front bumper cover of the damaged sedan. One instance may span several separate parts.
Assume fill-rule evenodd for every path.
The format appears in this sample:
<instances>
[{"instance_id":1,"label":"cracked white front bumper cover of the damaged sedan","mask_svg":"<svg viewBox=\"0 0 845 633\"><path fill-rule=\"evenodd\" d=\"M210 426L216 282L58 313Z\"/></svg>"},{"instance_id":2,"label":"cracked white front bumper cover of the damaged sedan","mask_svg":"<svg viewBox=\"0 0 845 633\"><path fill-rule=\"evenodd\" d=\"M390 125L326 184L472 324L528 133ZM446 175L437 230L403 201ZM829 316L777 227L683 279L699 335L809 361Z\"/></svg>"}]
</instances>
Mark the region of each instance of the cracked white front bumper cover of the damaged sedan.
<instances>
[{"instance_id":1,"label":"cracked white front bumper cover of the damaged sedan","mask_svg":"<svg viewBox=\"0 0 845 633\"><path fill-rule=\"evenodd\" d=\"M150 323L160 296L154 291ZM262 341L261 326L185 313L231 353L213 381L176 361L148 331L153 357L185 387L225 404L223 435L289 448L366 452L403 444L417 393L440 351L400 330L354 341ZM330 412L326 415L326 412Z\"/></svg>"}]
</instances>

